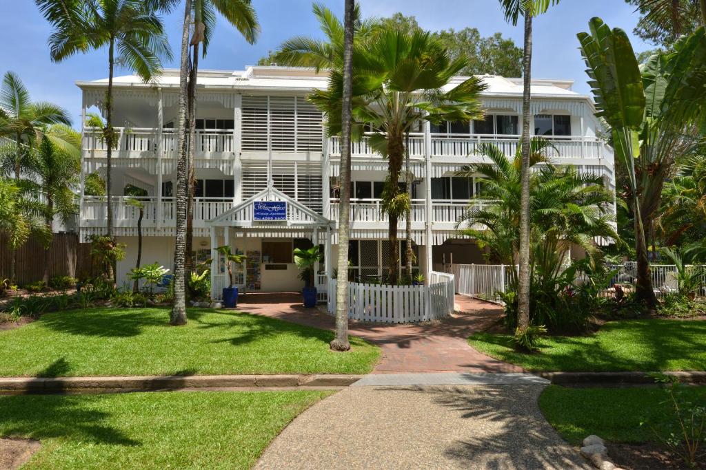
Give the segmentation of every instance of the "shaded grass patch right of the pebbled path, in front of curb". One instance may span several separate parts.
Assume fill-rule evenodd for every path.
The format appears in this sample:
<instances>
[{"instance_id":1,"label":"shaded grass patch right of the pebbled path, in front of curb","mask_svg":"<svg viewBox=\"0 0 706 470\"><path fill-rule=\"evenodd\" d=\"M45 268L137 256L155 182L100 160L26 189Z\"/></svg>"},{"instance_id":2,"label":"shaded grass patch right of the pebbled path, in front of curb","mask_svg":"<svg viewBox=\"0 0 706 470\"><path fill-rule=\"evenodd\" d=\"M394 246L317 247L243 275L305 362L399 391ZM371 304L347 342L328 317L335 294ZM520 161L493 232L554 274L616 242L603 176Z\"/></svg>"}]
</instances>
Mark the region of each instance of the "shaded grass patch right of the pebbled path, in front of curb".
<instances>
[{"instance_id":1,"label":"shaded grass patch right of the pebbled path, in front of curb","mask_svg":"<svg viewBox=\"0 0 706 470\"><path fill-rule=\"evenodd\" d=\"M706 387L683 388L685 399L706 402ZM569 443L580 445L590 434L618 443L655 442L654 428L674 419L662 388L563 388L550 385L539 407L551 426ZM649 423L641 426L640 423Z\"/></svg>"}]
</instances>

